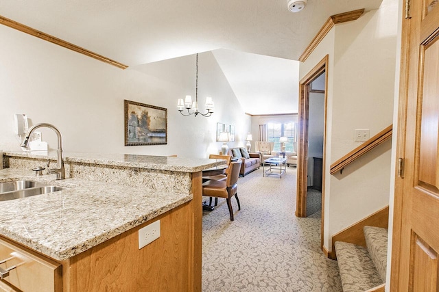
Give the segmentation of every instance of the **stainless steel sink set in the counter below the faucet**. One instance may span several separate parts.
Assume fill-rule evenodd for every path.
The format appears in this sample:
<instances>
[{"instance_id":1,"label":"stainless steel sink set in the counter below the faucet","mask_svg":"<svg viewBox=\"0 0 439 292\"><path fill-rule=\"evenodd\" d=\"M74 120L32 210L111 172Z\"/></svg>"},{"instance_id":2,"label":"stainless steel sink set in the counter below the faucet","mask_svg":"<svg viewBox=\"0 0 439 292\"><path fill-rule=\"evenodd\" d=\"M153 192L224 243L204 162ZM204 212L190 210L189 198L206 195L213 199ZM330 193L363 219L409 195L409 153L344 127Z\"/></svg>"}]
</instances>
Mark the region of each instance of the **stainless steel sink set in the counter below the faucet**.
<instances>
[{"instance_id":1,"label":"stainless steel sink set in the counter below the faucet","mask_svg":"<svg viewBox=\"0 0 439 292\"><path fill-rule=\"evenodd\" d=\"M48 194L54 191L61 191L62 189L67 189L67 187L57 187L37 181L11 181L8 183L0 183L0 201Z\"/></svg>"}]
</instances>

